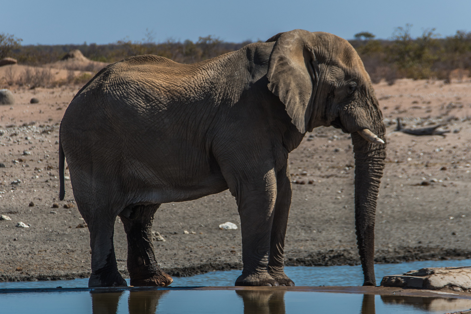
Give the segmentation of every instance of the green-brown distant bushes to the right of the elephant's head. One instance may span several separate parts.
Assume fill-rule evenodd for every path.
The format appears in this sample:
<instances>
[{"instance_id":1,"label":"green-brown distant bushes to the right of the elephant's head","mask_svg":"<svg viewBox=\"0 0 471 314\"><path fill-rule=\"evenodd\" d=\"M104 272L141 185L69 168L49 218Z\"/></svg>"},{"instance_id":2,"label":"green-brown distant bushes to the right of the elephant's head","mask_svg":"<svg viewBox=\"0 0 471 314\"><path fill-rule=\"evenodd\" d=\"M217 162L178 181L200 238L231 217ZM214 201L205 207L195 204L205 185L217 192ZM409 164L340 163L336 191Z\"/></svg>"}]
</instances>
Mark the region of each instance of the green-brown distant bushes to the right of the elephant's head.
<instances>
[{"instance_id":1,"label":"green-brown distant bushes to the right of the elephant's head","mask_svg":"<svg viewBox=\"0 0 471 314\"><path fill-rule=\"evenodd\" d=\"M397 27L390 40L360 40L367 38L362 35L367 32L350 40L373 82L385 79L392 84L397 78L449 80L456 69L471 70L471 32L457 31L454 36L439 38L432 28L412 38L411 27Z\"/></svg>"}]
</instances>

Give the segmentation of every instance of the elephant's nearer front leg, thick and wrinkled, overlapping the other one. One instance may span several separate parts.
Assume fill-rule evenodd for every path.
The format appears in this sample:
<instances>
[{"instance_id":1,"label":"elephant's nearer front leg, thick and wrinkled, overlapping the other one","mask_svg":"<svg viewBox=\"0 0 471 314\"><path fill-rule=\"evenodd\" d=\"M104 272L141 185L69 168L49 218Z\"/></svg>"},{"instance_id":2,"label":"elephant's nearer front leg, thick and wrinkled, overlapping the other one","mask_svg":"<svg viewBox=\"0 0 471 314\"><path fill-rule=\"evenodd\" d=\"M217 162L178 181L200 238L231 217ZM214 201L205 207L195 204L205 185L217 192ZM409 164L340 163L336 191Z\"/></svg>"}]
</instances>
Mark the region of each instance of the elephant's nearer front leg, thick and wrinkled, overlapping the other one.
<instances>
[{"instance_id":1,"label":"elephant's nearer front leg, thick and wrinkled, overlapping the other one","mask_svg":"<svg viewBox=\"0 0 471 314\"><path fill-rule=\"evenodd\" d=\"M270 230L276 201L276 177L273 172L260 185L241 184L237 193L242 231L244 270L236 286L278 286L268 273Z\"/></svg>"}]
</instances>

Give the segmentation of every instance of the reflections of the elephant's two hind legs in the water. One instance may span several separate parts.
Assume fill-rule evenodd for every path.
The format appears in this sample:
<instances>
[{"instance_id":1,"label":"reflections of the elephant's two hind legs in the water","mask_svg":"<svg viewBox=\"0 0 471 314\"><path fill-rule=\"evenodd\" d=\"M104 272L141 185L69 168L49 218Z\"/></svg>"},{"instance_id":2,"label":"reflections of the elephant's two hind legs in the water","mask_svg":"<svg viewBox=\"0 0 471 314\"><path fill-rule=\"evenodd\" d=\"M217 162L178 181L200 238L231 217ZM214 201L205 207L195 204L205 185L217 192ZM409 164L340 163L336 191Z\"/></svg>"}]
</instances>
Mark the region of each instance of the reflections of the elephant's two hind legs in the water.
<instances>
[{"instance_id":1,"label":"reflections of the elephant's two hind legs in the water","mask_svg":"<svg viewBox=\"0 0 471 314\"><path fill-rule=\"evenodd\" d=\"M169 290L134 291L129 293L128 309L130 314L154 314L159 299ZM116 314L122 292L90 292L93 314Z\"/></svg>"}]
</instances>

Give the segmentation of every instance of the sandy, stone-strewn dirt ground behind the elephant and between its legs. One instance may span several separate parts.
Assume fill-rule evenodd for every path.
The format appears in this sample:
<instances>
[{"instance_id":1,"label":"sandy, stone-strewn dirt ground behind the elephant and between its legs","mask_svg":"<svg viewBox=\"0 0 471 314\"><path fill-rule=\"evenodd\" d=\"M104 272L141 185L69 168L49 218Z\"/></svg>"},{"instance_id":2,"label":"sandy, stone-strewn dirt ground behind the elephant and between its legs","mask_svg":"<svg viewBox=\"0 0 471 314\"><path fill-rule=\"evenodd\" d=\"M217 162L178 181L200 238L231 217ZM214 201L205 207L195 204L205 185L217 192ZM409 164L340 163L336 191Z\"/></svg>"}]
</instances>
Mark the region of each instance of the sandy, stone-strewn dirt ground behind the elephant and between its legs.
<instances>
[{"instance_id":1,"label":"sandy, stone-strewn dirt ground behind the elephant and between its legs","mask_svg":"<svg viewBox=\"0 0 471 314\"><path fill-rule=\"evenodd\" d=\"M470 258L471 81L398 80L374 87L388 126L376 261ZM65 200L57 201L58 126L79 88L9 88L16 104L0 106L0 162L5 165L0 168L0 213L11 218L0 220L0 281L86 277L89 232L80 227L84 222L70 181L65 181ZM30 104L32 97L40 102ZM394 132L397 117L404 117L406 128L443 124L450 133L414 137ZM358 264L349 135L315 129L290 154L289 164L293 198L286 265ZM240 228L220 230L218 225L227 221L240 223L228 191L163 204L153 226L166 240L154 242L162 267L172 275L240 268ZM29 228L16 227L18 222ZM118 267L126 275L127 244L119 219L114 243Z\"/></svg>"}]
</instances>

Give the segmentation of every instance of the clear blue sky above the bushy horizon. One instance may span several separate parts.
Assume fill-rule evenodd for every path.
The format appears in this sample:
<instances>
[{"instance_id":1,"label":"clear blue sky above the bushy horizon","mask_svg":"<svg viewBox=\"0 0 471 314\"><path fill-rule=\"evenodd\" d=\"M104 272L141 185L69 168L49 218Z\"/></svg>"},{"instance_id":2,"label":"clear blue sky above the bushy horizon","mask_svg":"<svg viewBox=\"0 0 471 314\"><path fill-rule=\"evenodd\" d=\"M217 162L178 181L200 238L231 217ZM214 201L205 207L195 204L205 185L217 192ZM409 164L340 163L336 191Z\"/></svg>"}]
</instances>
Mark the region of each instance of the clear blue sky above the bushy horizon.
<instances>
[{"instance_id":1,"label":"clear blue sky above the bushy horizon","mask_svg":"<svg viewBox=\"0 0 471 314\"><path fill-rule=\"evenodd\" d=\"M146 29L157 42L266 40L296 28L331 32L346 39L368 31L387 39L413 24L412 34L435 27L442 36L471 31L471 0L14 0L3 1L0 32L27 44L105 44L141 40Z\"/></svg>"}]
</instances>

